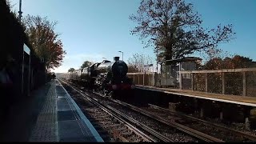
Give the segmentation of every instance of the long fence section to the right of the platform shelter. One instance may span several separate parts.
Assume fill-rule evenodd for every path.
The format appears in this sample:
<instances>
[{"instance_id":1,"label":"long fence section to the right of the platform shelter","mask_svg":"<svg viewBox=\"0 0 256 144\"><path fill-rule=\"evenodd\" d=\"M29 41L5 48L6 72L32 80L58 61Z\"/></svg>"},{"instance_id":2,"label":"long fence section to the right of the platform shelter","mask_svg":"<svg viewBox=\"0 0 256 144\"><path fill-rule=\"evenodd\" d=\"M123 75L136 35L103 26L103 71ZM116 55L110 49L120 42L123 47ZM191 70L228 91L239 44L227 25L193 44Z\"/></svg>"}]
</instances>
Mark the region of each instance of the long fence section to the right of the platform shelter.
<instances>
[{"instance_id":1,"label":"long fence section to the right of the platform shelter","mask_svg":"<svg viewBox=\"0 0 256 144\"><path fill-rule=\"evenodd\" d=\"M179 89L256 96L256 68L180 71Z\"/></svg>"}]
</instances>

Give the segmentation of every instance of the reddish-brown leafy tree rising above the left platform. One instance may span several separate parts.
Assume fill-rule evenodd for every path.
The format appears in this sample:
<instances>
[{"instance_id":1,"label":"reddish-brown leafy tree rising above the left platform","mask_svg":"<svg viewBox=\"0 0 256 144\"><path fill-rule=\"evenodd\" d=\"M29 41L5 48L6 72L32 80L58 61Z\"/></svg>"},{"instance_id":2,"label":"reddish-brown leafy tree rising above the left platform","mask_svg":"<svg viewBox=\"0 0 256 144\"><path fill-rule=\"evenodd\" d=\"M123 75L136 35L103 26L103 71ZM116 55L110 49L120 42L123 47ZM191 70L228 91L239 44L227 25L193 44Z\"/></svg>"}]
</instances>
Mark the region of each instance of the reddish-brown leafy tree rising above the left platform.
<instances>
[{"instance_id":1,"label":"reddish-brown leafy tree rising above the left platform","mask_svg":"<svg viewBox=\"0 0 256 144\"><path fill-rule=\"evenodd\" d=\"M27 15L23 19L26 34L39 58L43 58L46 69L61 66L66 51L62 49L59 34L54 32L57 22L50 22L47 18Z\"/></svg>"}]
</instances>

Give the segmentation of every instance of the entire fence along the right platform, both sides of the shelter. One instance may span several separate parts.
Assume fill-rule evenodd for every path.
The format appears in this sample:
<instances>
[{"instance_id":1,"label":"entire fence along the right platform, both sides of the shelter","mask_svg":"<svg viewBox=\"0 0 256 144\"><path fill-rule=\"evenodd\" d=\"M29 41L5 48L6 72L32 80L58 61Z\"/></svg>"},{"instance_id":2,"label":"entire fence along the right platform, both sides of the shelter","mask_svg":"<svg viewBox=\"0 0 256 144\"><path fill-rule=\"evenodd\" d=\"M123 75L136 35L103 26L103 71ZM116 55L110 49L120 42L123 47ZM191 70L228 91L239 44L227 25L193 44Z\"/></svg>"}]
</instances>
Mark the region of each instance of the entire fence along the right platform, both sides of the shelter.
<instances>
[{"instance_id":1,"label":"entire fence along the right platform, both sides of the shelter","mask_svg":"<svg viewBox=\"0 0 256 144\"><path fill-rule=\"evenodd\" d=\"M178 73L177 88L181 90L256 97L256 68L184 70ZM135 85L168 87L161 86L161 74L151 72L127 75Z\"/></svg>"}]
</instances>

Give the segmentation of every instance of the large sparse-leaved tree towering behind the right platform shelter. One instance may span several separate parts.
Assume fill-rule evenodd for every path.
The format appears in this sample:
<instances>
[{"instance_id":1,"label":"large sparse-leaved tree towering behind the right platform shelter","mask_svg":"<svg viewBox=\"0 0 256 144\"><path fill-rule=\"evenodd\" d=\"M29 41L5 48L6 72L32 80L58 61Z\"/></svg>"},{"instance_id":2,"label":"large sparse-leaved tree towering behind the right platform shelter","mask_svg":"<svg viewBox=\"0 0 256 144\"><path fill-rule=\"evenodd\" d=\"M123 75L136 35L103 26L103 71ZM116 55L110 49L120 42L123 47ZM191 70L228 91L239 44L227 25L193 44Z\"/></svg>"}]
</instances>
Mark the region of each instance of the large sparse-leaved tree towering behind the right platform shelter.
<instances>
[{"instance_id":1,"label":"large sparse-leaved tree towering behind the right platform shelter","mask_svg":"<svg viewBox=\"0 0 256 144\"><path fill-rule=\"evenodd\" d=\"M204 29L193 5L184 0L142 0L137 15L130 15L130 20L138 23L131 34L137 34L145 47L154 45L158 60L217 47L220 42L230 42L235 34L232 24Z\"/></svg>"}]
</instances>

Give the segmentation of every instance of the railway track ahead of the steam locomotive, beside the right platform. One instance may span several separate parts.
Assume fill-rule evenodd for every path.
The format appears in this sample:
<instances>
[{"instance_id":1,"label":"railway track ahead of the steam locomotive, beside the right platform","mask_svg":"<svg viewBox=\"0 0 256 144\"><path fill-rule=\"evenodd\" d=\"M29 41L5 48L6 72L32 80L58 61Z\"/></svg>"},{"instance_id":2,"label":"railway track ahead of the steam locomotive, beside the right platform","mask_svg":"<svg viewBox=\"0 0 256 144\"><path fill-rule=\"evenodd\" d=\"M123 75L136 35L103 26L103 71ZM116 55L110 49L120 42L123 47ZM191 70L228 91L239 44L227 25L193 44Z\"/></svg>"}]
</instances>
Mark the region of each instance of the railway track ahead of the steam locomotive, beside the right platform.
<instances>
[{"instance_id":1,"label":"railway track ahead of the steam locomotive, beside the right platform","mask_svg":"<svg viewBox=\"0 0 256 144\"><path fill-rule=\"evenodd\" d=\"M98 93L94 92L94 94L98 94ZM102 94L98 94L98 95L101 95L101 97L106 98L106 96ZM139 114L143 114L158 122L162 122L167 126L172 126L175 129L180 130L185 134L189 134L194 138L198 138L201 141L205 141L205 142L255 142L256 141L256 136L254 134L249 134L246 132L242 132L240 130L230 129L229 127L226 127L226 126L221 126L212 122L207 122L202 119L194 118L190 115L182 114L176 111L167 110L159 106L154 106L149 104L149 107L147 108L138 108L137 106L132 106L126 102L121 102L119 100L112 99L112 98L108 98L108 99L112 101L112 103L106 102L108 103L109 108L111 110L121 110L123 112L119 111L119 113L129 114L131 117L133 114L127 112L129 110L125 110L125 109L134 110ZM117 103L118 105L121 105L121 106L118 106ZM134 115L135 115L134 119L141 117L136 114ZM144 119L144 120L148 121L148 119ZM149 126L149 127L153 128L154 126ZM161 131L155 128L154 130ZM162 131L165 131L165 130L162 130ZM165 134L165 135L166 137L170 138L168 134ZM176 141L171 140L170 142L176 142Z\"/></svg>"}]
</instances>

